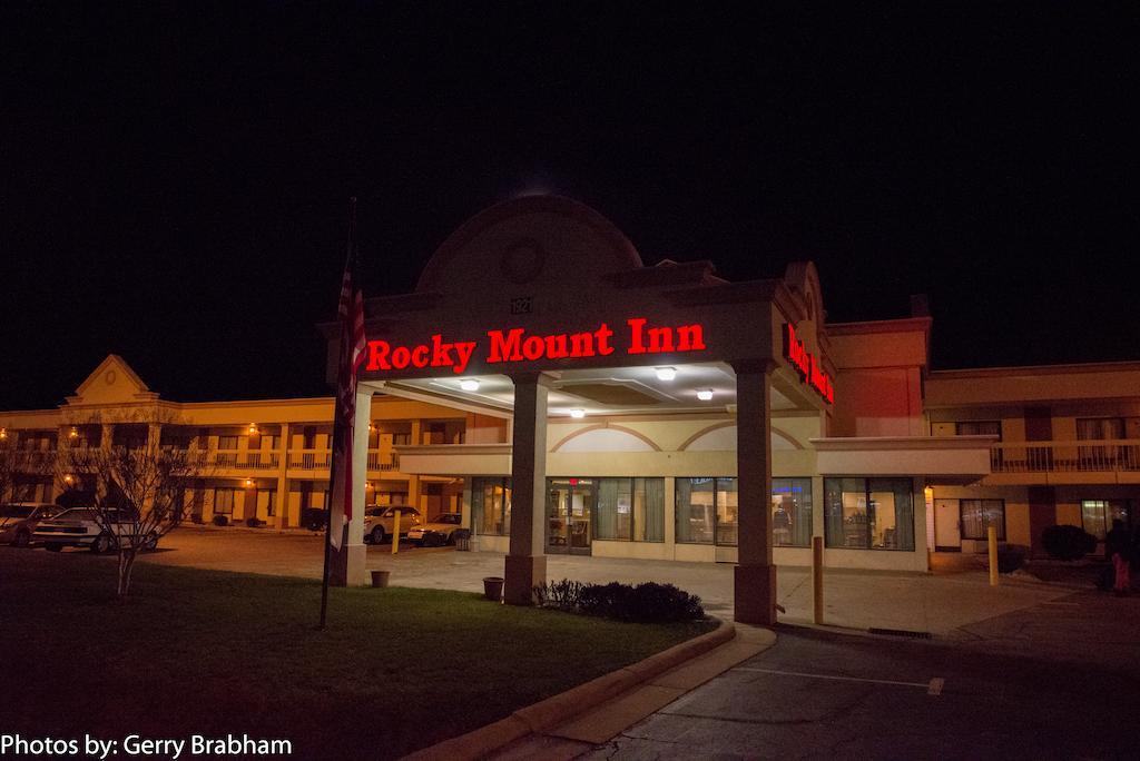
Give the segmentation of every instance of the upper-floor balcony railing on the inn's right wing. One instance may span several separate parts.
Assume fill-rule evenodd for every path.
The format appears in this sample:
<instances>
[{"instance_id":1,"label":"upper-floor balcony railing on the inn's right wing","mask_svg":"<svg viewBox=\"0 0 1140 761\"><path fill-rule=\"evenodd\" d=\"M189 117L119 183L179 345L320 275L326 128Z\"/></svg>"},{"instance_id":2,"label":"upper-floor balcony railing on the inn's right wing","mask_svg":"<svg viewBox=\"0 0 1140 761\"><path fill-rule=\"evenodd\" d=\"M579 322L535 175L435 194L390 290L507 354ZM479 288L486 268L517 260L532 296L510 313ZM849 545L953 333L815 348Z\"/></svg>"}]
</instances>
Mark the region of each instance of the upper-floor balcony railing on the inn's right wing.
<instances>
[{"instance_id":1,"label":"upper-floor balcony railing on the inn's right wing","mask_svg":"<svg viewBox=\"0 0 1140 761\"><path fill-rule=\"evenodd\" d=\"M1076 473L1140 470L1140 441L1019 441L990 449L994 473Z\"/></svg>"}]
</instances>

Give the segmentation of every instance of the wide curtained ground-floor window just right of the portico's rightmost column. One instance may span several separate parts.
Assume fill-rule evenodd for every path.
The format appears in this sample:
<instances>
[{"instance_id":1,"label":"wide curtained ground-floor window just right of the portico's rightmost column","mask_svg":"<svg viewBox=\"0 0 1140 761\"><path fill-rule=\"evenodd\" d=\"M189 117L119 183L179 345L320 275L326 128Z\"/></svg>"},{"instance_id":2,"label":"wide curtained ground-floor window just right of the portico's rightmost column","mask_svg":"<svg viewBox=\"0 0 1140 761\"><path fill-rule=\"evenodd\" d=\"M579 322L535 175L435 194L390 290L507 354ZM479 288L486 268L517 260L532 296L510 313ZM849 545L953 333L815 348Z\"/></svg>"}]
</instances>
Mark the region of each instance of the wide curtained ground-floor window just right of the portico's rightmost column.
<instances>
[{"instance_id":1,"label":"wide curtained ground-floor window just right of the portico's rightmost column","mask_svg":"<svg viewBox=\"0 0 1140 761\"><path fill-rule=\"evenodd\" d=\"M910 478L824 478L828 547L914 549Z\"/></svg>"}]
</instances>

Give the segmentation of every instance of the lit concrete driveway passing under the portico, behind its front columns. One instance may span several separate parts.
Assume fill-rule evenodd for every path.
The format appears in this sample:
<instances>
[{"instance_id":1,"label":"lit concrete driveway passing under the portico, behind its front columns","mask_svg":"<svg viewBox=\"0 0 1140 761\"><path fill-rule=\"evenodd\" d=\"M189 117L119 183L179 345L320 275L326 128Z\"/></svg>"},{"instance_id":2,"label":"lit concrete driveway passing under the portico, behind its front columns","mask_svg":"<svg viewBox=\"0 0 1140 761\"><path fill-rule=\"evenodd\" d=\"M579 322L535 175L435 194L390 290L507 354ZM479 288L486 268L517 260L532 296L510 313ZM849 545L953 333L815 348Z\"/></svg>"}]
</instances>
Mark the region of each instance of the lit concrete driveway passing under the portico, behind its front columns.
<instances>
[{"instance_id":1,"label":"lit concrete driveway passing under the portico, behind its front columns","mask_svg":"<svg viewBox=\"0 0 1140 761\"><path fill-rule=\"evenodd\" d=\"M320 578L323 534L277 533L251 529L184 526L163 539L163 550L146 557L168 563L276 575ZM503 574L503 555L462 553L451 548L416 549L402 545L368 548L368 568L388 568L391 583L405 587L482 591L482 579ZM700 596L706 609L732 617L732 566L714 563L671 563L552 555L551 580L589 582L670 582ZM986 574L968 570L946 574L834 571L825 574L825 623L865 630L899 629L938 637L970 639L964 628L995 615L1056 599L1067 590L1027 579L1003 580L992 588ZM781 567L780 604L787 622L807 623L812 586L806 568Z\"/></svg>"}]
</instances>

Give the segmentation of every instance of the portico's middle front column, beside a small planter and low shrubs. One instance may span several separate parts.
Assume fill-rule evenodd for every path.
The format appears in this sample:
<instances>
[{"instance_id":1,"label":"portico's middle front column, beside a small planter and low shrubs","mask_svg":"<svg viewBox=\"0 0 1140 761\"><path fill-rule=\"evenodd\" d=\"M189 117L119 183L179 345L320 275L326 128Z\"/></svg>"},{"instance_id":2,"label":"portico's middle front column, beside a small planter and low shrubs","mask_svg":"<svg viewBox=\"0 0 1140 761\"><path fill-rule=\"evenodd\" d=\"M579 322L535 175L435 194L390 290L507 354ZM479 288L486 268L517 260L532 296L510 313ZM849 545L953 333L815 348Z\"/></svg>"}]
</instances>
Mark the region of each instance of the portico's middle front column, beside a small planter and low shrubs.
<instances>
[{"instance_id":1,"label":"portico's middle front column, beside a small planter and low shrubs","mask_svg":"<svg viewBox=\"0 0 1140 761\"><path fill-rule=\"evenodd\" d=\"M549 376L513 376L514 436L511 450L511 550L503 594L511 605L530 605L546 583L543 519L546 514L546 398Z\"/></svg>"}]
</instances>

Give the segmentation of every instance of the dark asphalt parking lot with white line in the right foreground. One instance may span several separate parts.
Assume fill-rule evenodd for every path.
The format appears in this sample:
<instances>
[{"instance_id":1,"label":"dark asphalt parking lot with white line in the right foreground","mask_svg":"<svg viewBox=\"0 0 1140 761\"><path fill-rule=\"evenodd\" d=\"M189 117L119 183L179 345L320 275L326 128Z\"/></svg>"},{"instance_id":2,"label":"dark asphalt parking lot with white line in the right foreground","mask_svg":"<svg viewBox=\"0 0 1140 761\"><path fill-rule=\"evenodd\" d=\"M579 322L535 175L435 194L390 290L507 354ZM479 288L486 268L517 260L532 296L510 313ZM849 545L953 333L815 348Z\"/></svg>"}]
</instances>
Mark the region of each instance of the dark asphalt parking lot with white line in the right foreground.
<instances>
[{"instance_id":1,"label":"dark asphalt parking lot with white line in the right foreground","mask_svg":"<svg viewBox=\"0 0 1140 761\"><path fill-rule=\"evenodd\" d=\"M1140 599L1062 602L984 621L971 641L784 627L585 758L1135 758Z\"/></svg>"}]
</instances>

